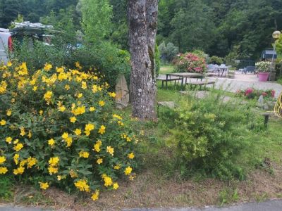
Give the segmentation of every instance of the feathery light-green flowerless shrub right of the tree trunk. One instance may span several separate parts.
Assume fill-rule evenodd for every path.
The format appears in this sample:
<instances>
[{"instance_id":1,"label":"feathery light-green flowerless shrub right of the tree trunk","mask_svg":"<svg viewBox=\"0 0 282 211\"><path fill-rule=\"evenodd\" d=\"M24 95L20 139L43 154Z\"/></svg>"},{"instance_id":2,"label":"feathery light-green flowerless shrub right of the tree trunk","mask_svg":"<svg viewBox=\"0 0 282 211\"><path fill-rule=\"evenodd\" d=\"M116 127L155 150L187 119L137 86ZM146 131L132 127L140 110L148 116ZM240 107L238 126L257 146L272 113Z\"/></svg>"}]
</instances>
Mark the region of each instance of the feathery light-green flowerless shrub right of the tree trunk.
<instances>
[{"instance_id":1,"label":"feathery light-green flowerless shrub right of the tree trunk","mask_svg":"<svg viewBox=\"0 0 282 211\"><path fill-rule=\"evenodd\" d=\"M262 129L249 105L223 103L219 94L179 103L175 110L165 109L160 115L171 134L176 170L183 177L200 173L219 179L244 179L245 171L236 159L249 146L245 134Z\"/></svg>"}]
</instances>

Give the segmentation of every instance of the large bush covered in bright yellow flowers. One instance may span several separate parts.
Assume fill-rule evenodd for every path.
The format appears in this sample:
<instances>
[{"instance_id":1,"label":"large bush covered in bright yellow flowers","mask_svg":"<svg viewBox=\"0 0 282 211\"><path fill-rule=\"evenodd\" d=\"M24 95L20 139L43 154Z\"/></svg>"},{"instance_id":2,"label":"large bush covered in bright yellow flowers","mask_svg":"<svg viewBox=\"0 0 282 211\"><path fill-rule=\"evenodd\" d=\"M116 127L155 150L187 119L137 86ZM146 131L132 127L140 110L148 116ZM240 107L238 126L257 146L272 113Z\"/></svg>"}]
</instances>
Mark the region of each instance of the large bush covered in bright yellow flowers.
<instances>
[{"instance_id":1,"label":"large bush covered in bright yellow flowers","mask_svg":"<svg viewBox=\"0 0 282 211\"><path fill-rule=\"evenodd\" d=\"M0 177L99 198L133 179L135 136L114 113L114 92L95 71L0 65Z\"/></svg>"}]
</instances>

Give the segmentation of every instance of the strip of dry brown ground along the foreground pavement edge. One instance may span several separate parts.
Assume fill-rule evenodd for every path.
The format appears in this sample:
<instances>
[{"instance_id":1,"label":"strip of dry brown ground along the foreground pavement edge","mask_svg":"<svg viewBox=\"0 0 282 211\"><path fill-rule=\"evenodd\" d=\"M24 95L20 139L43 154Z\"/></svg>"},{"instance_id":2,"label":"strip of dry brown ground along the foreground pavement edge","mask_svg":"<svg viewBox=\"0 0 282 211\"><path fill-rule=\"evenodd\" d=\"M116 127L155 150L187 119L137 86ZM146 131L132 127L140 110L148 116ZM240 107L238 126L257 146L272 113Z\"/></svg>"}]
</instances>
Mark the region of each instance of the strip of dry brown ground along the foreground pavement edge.
<instances>
[{"instance_id":1,"label":"strip of dry brown ground along the foreground pavement edge","mask_svg":"<svg viewBox=\"0 0 282 211\"><path fill-rule=\"evenodd\" d=\"M137 175L135 181L123 181L117 191L103 191L99 200L78 198L50 188L43 192L55 210L121 210L133 207L203 207L219 205L219 194L226 188L238 191L236 202L282 197L282 169L273 165L274 174L256 170L246 181L179 181L164 179L152 172ZM51 207L50 207L51 205Z\"/></svg>"}]
</instances>

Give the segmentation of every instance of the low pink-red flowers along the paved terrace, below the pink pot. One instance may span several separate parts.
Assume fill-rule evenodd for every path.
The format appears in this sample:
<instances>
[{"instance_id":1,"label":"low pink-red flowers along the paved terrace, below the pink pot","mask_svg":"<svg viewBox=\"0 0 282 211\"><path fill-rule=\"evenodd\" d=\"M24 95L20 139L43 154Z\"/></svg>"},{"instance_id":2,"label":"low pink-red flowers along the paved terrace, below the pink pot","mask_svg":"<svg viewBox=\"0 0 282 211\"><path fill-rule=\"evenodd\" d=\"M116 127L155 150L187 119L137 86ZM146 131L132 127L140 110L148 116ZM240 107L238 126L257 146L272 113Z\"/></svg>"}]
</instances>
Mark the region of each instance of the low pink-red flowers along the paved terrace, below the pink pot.
<instances>
[{"instance_id":1,"label":"low pink-red flowers along the paved terrace, below the pink pot","mask_svg":"<svg viewBox=\"0 0 282 211\"><path fill-rule=\"evenodd\" d=\"M236 92L236 95L245 96L246 98L249 98L249 99L259 98L259 96L261 95L264 96L264 98L274 98L275 91L271 89L262 91L262 90L257 90L253 88L247 88L245 90L238 90Z\"/></svg>"}]
</instances>

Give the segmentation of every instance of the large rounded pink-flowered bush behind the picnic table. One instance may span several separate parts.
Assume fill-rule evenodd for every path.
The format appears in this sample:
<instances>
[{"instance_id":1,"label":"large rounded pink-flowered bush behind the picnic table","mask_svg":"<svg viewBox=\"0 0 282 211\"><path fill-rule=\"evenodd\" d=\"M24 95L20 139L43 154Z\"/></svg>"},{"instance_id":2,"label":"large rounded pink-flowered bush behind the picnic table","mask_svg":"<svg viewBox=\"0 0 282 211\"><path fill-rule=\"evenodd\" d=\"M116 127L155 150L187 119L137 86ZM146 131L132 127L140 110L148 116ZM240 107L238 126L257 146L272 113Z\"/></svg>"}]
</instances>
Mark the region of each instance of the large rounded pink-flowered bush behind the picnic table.
<instances>
[{"instance_id":1,"label":"large rounded pink-flowered bush behind the picnic table","mask_svg":"<svg viewBox=\"0 0 282 211\"><path fill-rule=\"evenodd\" d=\"M207 70L206 60L195 53L180 53L175 63L180 72L204 73Z\"/></svg>"}]
</instances>

